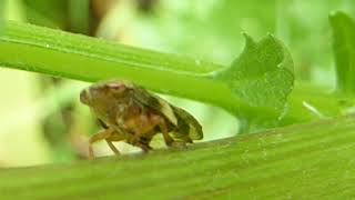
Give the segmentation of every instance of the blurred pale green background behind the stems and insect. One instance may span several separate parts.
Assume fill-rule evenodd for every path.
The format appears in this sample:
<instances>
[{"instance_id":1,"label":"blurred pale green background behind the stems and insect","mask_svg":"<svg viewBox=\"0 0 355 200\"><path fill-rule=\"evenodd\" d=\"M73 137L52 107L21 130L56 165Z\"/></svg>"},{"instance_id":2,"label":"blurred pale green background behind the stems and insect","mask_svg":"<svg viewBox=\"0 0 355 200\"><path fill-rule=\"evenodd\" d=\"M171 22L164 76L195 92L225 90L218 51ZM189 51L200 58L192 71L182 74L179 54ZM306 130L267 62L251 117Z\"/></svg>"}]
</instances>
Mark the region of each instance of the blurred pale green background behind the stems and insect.
<instances>
[{"instance_id":1,"label":"blurred pale green background behind the stems and insect","mask_svg":"<svg viewBox=\"0 0 355 200\"><path fill-rule=\"evenodd\" d=\"M296 80L335 86L328 14L355 13L351 0L0 0L1 18L62 29L130 46L230 64L244 46L267 33L285 42ZM354 14L352 16L354 17ZM0 52L1 53L1 52ZM88 83L0 68L0 167L87 158L100 128L79 102ZM165 97L191 111L206 140L239 133L239 120L219 108ZM161 140L154 141L162 146ZM118 143L123 152L136 151ZM105 143L100 156L112 154Z\"/></svg>"}]
</instances>

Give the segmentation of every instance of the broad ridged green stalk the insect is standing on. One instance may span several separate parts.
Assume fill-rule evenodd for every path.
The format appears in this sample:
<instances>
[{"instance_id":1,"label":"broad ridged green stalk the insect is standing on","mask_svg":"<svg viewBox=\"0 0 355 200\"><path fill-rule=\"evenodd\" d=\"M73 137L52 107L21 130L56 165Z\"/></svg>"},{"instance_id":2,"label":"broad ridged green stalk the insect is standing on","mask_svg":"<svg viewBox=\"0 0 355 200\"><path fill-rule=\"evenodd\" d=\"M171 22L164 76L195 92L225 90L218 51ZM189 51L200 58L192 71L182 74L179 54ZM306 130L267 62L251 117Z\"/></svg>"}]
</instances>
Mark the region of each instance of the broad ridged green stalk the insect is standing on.
<instances>
[{"instance_id":1,"label":"broad ridged green stalk the insect is standing on","mask_svg":"<svg viewBox=\"0 0 355 200\"><path fill-rule=\"evenodd\" d=\"M351 199L355 117L65 164L0 170L4 199Z\"/></svg>"}]
</instances>

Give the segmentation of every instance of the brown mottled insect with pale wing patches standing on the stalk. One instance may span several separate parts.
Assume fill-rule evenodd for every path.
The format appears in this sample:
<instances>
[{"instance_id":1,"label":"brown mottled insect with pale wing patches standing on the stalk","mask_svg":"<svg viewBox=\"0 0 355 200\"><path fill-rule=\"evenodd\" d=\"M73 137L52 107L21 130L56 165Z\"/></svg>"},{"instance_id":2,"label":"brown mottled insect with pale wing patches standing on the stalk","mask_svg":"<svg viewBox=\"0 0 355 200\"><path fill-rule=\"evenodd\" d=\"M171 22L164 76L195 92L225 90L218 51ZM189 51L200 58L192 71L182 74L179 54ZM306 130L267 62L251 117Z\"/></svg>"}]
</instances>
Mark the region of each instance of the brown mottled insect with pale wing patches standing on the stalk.
<instances>
[{"instance_id":1,"label":"brown mottled insect with pale wing patches standing on the stalk","mask_svg":"<svg viewBox=\"0 0 355 200\"><path fill-rule=\"evenodd\" d=\"M203 138L202 127L193 116L129 81L92 84L80 93L80 101L91 108L103 128L89 140L91 159L94 158L92 144L99 140L105 140L120 154L113 141L125 141L148 152L156 133L163 134L168 147Z\"/></svg>"}]
</instances>

